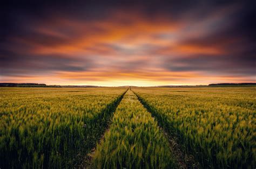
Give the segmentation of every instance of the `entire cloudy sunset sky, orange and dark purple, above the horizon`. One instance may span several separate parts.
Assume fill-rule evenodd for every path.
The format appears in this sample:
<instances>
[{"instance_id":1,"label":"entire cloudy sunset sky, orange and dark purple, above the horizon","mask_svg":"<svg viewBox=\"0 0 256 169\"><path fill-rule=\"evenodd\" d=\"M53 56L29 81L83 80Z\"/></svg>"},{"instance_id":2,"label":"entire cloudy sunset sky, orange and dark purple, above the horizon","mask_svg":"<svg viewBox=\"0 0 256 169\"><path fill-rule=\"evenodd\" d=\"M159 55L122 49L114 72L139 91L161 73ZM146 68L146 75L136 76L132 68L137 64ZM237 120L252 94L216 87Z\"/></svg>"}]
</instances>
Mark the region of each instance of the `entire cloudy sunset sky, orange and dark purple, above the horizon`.
<instances>
[{"instance_id":1,"label":"entire cloudy sunset sky, orange and dark purple, above the horizon","mask_svg":"<svg viewBox=\"0 0 256 169\"><path fill-rule=\"evenodd\" d=\"M8 1L0 82L256 82L255 1Z\"/></svg>"}]
</instances>

